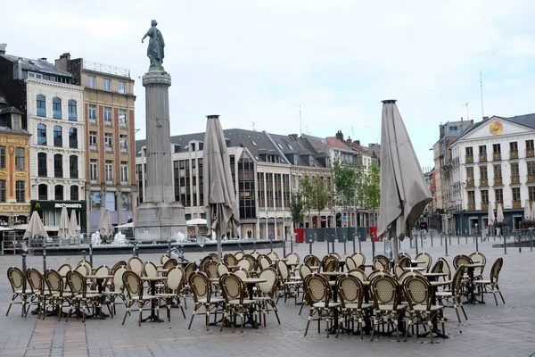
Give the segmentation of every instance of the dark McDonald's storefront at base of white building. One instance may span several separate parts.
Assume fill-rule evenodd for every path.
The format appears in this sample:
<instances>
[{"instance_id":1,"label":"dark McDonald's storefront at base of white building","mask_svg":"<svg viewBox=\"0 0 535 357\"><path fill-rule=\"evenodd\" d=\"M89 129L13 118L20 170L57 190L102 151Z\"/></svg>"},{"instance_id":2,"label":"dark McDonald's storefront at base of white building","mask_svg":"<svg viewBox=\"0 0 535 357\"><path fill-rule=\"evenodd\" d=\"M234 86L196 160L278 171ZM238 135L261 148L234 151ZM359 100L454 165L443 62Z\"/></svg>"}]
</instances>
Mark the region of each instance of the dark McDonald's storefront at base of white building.
<instances>
[{"instance_id":1,"label":"dark McDonald's storefront at base of white building","mask_svg":"<svg viewBox=\"0 0 535 357\"><path fill-rule=\"evenodd\" d=\"M62 208L67 212L76 212L78 226L82 232L86 232L86 201L36 201L30 202L31 212L37 211L46 227L59 227L62 217Z\"/></svg>"}]
</instances>

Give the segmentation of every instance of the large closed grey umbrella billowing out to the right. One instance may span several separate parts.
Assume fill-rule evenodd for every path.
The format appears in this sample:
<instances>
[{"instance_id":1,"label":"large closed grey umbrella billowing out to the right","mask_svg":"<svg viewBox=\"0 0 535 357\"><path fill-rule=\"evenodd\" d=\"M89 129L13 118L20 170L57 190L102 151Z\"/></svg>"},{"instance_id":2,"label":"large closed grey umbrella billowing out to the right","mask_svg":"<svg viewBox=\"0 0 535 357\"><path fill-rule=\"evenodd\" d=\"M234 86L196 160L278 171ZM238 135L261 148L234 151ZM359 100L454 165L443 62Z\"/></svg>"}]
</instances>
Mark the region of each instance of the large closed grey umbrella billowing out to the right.
<instances>
[{"instance_id":1,"label":"large closed grey umbrella billowing out to the right","mask_svg":"<svg viewBox=\"0 0 535 357\"><path fill-rule=\"evenodd\" d=\"M432 200L415 149L395 100L383 101L381 124L381 206L378 234L387 229L394 238L398 262L398 239L410 237L412 225Z\"/></svg>"}]
</instances>

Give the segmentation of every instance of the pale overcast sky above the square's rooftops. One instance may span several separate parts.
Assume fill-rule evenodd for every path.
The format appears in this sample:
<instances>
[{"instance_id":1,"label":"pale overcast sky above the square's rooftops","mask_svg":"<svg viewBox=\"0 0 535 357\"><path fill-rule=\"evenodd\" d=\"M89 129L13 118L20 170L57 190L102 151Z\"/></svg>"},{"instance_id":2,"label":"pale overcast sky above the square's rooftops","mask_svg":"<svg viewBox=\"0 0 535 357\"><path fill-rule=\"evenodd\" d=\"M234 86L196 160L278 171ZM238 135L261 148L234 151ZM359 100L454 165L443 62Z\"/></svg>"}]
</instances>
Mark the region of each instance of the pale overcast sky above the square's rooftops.
<instances>
[{"instance_id":1,"label":"pale overcast sky above the square's rooftops","mask_svg":"<svg viewBox=\"0 0 535 357\"><path fill-rule=\"evenodd\" d=\"M7 6L7 9L6 9ZM439 124L535 111L535 2L508 0L111 0L7 2L7 53L64 52L126 67L136 79L144 138L151 20L172 76L171 133L224 129L379 142L383 99L399 111L422 166ZM464 106L468 103L468 107ZM300 125L299 106L302 125Z\"/></svg>"}]
</instances>

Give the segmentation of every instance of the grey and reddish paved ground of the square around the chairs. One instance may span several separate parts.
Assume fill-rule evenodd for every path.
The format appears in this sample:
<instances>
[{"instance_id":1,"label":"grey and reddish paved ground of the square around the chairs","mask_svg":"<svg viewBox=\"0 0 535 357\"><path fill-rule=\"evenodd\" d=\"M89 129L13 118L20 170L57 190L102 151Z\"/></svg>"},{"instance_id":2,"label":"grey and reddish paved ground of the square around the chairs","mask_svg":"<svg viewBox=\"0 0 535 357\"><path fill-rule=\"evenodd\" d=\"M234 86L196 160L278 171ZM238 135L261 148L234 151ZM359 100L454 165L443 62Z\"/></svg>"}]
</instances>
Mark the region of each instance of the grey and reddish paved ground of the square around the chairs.
<instances>
[{"instance_id":1,"label":"grey and reddish paved ground of the square around the chairs","mask_svg":"<svg viewBox=\"0 0 535 357\"><path fill-rule=\"evenodd\" d=\"M453 245L449 246L451 261L458 253L473 253L475 245L472 238L466 245L461 237L461 244L457 245L457 237L452 237ZM303 337L307 322L308 308L298 315L299 306L289 299L287 303L278 303L281 325L276 323L273 314L268 315L268 327L252 329L246 327L243 334L239 328L225 328L219 332L218 327L204 329L203 317L193 320L191 330L187 323L191 317L193 303L188 301L186 319L176 309L171 311L171 322L142 324L137 326L137 316L133 314L127 318L125 326L121 326L124 307L118 305L118 316L106 320L71 319L68 323L54 318L37 320L37 316L21 318L21 306L14 305L10 315L5 316L11 298L11 287L5 272L11 265L21 267L20 256L0 256L0 356L255 356L273 357L276 355L292 356L531 356L535 355L535 278L532 266L535 253L529 248L508 249L505 255L503 249L492 248L494 242L480 244L480 252L487 256L487 267L484 275L488 276L490 266L499 256L504 258L504 268L500 274L500 288L506 299L506 304L499 302L496 306L492 296L487 295L486 304L465 305L468 320L457 322L455 311L446 310L446 332L449 339L436 339L431 345L429 338L409 337L407 343L397 342L395 335L379 336L374 342L369 336L361 340L359 336L341 335L339 338L326 338L325 333L317 334L316 324L312 323L309 336ZM445 247L440 246L440 239L434 238L424 242L425 251L432 254L433 262L445 253ZM162 248L162 253L166 248ZM336 250L343 253L343 245L337 243ZM371 244L363 243L363 252L368 260L371 257ZM309 253L309 245L297 245L294 251L300 258ZM264 250L263 253L267 253ZM290 246L287 245L287 253ZM352 253L352 243L348 242L347 252ZM416 256L415 248L410 249L408 242L402 243L400 252L408 252ZM282 248L276 253L282 255ZM326 244L317 243L313 253L323 256ZM377 252L383 253L383 244L377 244ZM198 260L202 253L186 253L188 260ZM345 256L342 254L342 257ZM160 260L160 254L141 255L143 260ZM64 262L71 265L81 259L81 255L70 257L48 257L48 267L59 267ZM113 265L119 259L128 259L127 255L95 256L94 265ZM42 257L30 256L28 266L43 268ZM499 300L499 298L498 298ZM145 313L145 315L148 314ZM165 310L161 310L165 316Z\"/></svg>"}]
</instances>

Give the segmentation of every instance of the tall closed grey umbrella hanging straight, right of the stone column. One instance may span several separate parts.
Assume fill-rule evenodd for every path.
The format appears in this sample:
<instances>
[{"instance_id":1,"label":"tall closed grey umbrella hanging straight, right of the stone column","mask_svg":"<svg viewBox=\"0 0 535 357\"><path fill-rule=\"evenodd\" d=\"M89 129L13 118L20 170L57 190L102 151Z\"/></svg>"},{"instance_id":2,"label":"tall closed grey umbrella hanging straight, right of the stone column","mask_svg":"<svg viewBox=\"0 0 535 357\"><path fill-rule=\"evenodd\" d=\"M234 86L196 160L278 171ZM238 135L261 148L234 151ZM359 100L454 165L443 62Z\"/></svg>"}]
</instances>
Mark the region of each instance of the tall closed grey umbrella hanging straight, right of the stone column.
<instances>
[{"instance_id":1,"label":"tall closed grey umbrella hanging straight, right of the stone column","mask_svg":"<svg viewBox=\"0 0 535 357\"><path fill-rule=\"evenodd\" d=\"M236 232L240 222L230 170L230 157L218 115L207 117L202 150L202 175L207 226L216 232L218 256L221 259L221 236L228 228Z\"/></svg>"}]
</instances>

